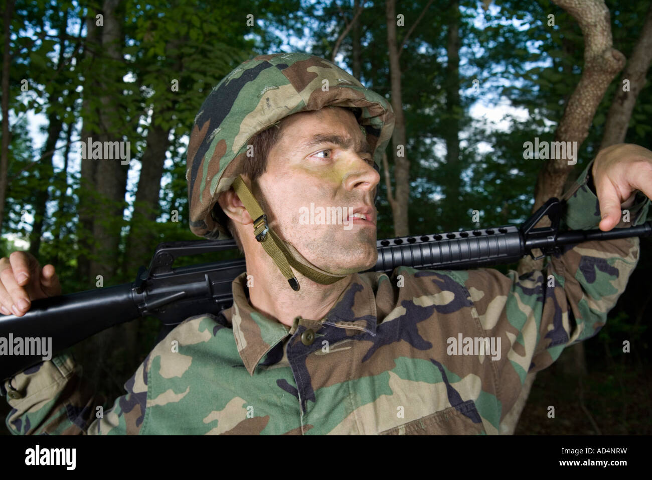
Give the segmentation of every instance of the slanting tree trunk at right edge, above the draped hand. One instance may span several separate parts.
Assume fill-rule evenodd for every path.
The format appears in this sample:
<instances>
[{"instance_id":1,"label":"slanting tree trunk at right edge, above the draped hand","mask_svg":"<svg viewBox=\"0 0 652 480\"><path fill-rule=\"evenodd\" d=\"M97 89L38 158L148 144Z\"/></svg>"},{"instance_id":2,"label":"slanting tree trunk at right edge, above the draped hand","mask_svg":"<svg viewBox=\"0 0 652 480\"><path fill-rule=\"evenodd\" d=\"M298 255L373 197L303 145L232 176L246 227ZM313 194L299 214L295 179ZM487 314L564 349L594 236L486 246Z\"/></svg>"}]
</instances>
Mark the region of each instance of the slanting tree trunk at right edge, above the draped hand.
<instances>
[{"instance_id":1,"label":"slanting tree trunk at right edge, above the draped hand","mask_svg":"<svg viewBox=\"0 0 652 480\"><path fill-rule=\"evenodd\" d=\"M634 110L634 104L641 89L645 86L645 77L652 61L652 4L647 10L645 24L632 50L632 56L616 86L614 101L604 125L604 135L600 150L610 145L625 142L627 126ZM623 81L629 80L629 91L623 91Z\"/></svg>"}]
</instances>

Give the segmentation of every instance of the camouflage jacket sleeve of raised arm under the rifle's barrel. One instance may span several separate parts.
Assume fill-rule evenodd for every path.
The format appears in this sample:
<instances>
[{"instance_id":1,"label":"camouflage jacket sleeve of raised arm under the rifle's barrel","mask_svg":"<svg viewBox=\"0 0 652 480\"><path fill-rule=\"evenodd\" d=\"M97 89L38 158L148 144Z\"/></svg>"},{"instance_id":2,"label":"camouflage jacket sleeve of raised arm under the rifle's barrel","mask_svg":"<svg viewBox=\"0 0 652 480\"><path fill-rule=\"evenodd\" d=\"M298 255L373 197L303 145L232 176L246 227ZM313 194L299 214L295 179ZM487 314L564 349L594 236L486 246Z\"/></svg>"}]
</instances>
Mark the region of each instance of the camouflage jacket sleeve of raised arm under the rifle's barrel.
<instances>
[{"instance_id":1,"label":"camouflage jacket sleeve of raised arm under the rifle's barrel","mask_svg":"<svg viewBox=\"0 0 652 480\"><path fill-rule=\"evenodd\" d=\"M564 196L567 210L560 229L598 228L599 202L587 185L592 165ZM643 223L649 202L637 193L629 221L625 214L616 227ZM546 368L565 347L599 332L638 262L638 244L633 237L566 246L548 257L543 270L522 276L488 268L454 273L469 292L482 334L501 339L501 358L490 362L501 419L518 398L528 372Z\"/></svg>"}]
</instances>

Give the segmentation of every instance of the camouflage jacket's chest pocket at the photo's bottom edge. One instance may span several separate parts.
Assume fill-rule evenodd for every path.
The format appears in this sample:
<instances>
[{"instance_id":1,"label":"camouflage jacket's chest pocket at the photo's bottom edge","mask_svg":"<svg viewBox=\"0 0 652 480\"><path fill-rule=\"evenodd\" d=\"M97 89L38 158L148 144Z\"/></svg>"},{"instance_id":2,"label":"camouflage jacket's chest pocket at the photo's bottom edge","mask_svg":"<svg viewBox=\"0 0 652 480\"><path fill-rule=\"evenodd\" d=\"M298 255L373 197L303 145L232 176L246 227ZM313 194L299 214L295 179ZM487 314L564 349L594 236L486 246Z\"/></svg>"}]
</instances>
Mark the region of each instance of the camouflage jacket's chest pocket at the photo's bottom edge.
<instances>
[{"instance_id":1,"label":"camouflage jacket's chest pocket at the photo's bottom edge","mask_svg":"<svg viewBox=\"0 0 652 480\"><path fill-rule=\"evenodd\" d=\"M406 424L390 428L379 435L481 435L486 434L473 400L450 407Z\"/></svg>"}]
</instances>

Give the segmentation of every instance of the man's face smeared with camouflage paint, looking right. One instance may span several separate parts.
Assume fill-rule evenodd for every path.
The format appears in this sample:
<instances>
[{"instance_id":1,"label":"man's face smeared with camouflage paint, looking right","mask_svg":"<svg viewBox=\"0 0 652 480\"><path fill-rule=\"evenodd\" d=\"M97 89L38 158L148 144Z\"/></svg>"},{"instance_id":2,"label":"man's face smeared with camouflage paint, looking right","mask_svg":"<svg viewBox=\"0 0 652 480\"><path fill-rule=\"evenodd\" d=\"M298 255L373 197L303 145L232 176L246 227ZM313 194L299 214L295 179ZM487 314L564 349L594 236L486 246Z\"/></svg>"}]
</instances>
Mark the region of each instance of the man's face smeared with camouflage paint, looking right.
<instances>
[{"instance_id":1,"label":"man's face smeared with camouflage paint, looking right","mask_svg":"<svg viewBox=\"0 0 652 480\"><path fill-rule=\"evenodd\" d=\"M380 179L373 165L349 110L323 108L286 118L256 182L271 226L319 268L335 274L371 268L378 259L374 195Z\"/></svg>"}]
</instances>

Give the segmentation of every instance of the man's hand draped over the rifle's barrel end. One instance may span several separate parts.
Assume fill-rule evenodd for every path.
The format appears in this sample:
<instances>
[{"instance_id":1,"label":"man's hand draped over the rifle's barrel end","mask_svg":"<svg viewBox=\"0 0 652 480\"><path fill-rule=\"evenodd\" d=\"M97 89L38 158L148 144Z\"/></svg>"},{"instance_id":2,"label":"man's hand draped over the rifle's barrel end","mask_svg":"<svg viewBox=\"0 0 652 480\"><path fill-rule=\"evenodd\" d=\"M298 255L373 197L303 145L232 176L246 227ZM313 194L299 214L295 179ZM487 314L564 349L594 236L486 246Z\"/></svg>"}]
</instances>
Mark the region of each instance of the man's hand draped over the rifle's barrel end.
<instances>
[{"instance_id":1,"label":"man's hand draped over the rifle's barrel end","mask_svg":"<svg viewBox=\"0 0 652 480\"><path fill-rule=\"evenodd\" d=\"M652 152L638 145L617 144L600 150L593 162L593 184L600 202L600 230L613 229L621 208L634 202L636 190L652 198Z\"/></svg>"}]
</instances>

